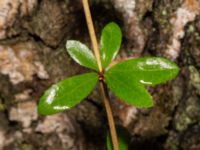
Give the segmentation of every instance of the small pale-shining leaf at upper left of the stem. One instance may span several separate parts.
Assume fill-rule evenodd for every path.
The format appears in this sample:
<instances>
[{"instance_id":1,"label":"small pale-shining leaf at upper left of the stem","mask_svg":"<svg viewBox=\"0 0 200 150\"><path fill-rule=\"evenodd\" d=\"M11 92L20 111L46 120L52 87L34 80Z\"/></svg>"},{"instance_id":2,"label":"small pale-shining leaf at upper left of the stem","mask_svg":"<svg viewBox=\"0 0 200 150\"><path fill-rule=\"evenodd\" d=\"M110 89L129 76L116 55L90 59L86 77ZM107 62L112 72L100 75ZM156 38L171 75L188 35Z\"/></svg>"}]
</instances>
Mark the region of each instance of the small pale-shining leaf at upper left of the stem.
<instances>
[{"instance_id":1,"label":"small pale-shining leaf at upper left of the stem","mask_svg":"<svg viewBox=\"0 0 200 150\"><path fill-rule=\"evenodd\" d=\"M96 59L89 48L79 41L69 40L66 44L69 55L80 65L98 70Z\"/></svg>"}]
</instances>

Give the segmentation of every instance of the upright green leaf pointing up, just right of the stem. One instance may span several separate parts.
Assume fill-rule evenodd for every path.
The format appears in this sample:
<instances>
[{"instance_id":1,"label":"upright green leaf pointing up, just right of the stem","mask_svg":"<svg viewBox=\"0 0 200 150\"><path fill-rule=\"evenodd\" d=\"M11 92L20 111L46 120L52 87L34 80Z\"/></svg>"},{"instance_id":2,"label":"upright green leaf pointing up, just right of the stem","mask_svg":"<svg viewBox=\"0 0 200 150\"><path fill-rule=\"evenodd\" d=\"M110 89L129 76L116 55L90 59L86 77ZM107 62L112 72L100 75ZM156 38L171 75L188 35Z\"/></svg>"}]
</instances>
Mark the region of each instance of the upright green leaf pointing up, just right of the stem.
<instances>
[{"instance_id":1,"label":"upright green leaf pointing up, just right of the stem","mask_svg":"<svg viewBox=\"0 0 200 150\"><path fill-rule=\"evenodd\" d=\"M117 55L122 41L120 27L111 22L107 24L101 34L101 61L106 68Z\"/></svg>"}]
</instances>

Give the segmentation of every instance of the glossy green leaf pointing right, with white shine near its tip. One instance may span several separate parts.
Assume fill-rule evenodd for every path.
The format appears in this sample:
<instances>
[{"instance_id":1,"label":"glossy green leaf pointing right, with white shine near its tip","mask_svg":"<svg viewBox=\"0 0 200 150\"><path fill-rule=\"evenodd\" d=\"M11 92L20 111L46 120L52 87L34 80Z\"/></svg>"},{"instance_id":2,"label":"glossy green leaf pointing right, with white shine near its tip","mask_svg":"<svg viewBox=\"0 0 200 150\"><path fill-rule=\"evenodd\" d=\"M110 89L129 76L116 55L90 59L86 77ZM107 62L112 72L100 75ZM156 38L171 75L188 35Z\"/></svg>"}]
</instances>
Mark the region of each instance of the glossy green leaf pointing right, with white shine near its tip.
<instances>
[{"instance_id":1,"label":"glossy green leaf pointing right, with white shine near its tip","mask_svg":"<svg viewBox=\"0 0 200 150\"><path fill-rule=\"evenodd\" d=\"M173 79L179 67L161 57L143 57L123 61L108 70L108 74L126 76L144 85L156 85Z\"/></svg>"}]
</instances>

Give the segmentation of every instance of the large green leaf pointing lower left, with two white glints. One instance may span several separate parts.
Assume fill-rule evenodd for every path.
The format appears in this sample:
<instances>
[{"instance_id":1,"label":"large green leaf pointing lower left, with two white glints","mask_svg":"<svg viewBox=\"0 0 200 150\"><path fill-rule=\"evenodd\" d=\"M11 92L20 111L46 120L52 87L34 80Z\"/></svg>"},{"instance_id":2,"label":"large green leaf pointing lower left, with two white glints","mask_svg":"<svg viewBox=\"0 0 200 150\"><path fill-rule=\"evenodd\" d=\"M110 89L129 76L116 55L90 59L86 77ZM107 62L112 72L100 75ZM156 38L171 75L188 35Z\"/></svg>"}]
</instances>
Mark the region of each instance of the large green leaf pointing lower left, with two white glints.
<instances>
[{"instance_id":1,"label":"large green leaf pointing lower left, with two white glints","mask_svg":"<svg viewBox=\"0 0 200 150\"><path fill-rule=\"evenodd\" d=\"M95 87L96 73L73 76L52 85L40 98L38 112L51 115L79 104Z\"/></svg>"}]
</instances>

